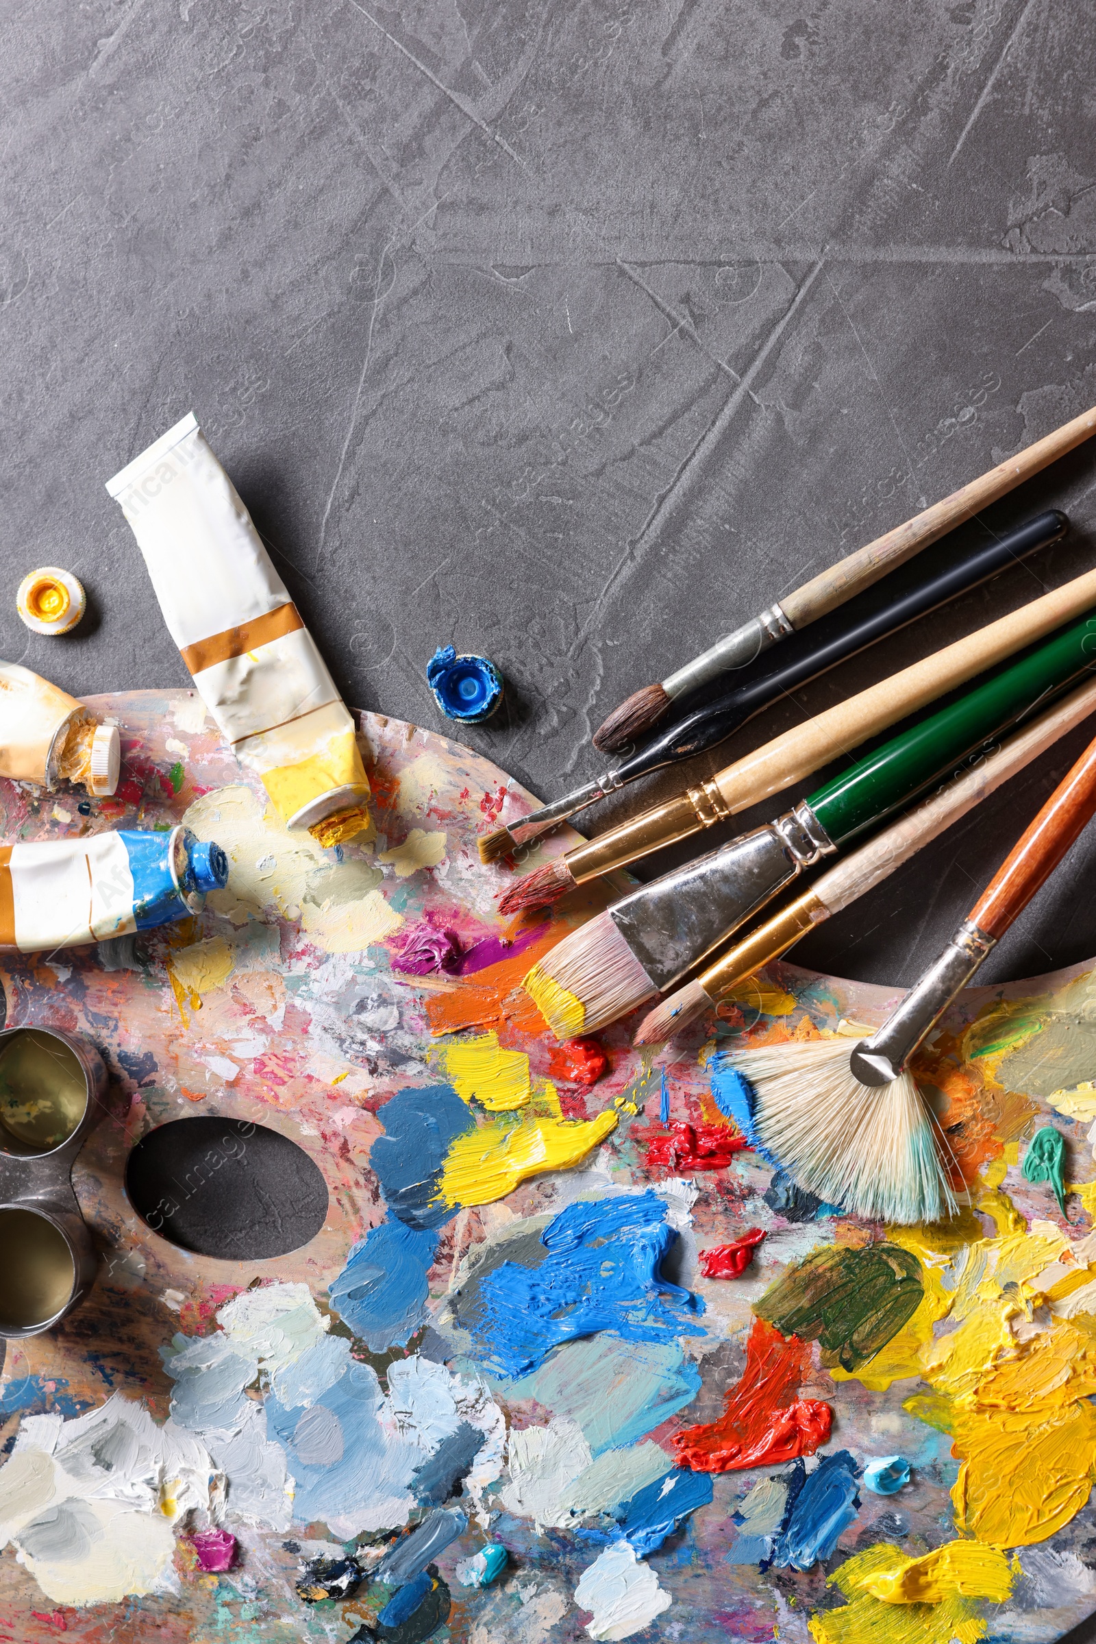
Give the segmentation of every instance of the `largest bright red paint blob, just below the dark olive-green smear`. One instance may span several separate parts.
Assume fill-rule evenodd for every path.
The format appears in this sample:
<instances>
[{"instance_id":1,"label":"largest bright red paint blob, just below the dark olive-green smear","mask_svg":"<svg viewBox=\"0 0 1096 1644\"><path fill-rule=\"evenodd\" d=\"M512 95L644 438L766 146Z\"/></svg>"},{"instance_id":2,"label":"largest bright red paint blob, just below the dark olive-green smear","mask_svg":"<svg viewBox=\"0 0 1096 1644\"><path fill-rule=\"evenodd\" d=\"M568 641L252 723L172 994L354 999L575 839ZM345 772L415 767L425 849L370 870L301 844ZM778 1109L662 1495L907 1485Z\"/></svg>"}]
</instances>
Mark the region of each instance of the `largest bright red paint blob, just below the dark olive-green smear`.
<instances>
[{"instance_id":1,"label":"largest bright red paint blob, just below the dark olive-green smear","mask_svg":"<svg viewBox=\"0 0 1096 1644\"><path fill-rule=\"evenodd\" d=\"M833 1412L822 1399L799 1397L808 1355L807 1342L785 1340L764 1318L754 1318L746 1368L726 1394L723 1415L675 1434L677 1465L695 1473L731 1473L813 1455L830 1437Z\"/></svg>"}]
</instances>

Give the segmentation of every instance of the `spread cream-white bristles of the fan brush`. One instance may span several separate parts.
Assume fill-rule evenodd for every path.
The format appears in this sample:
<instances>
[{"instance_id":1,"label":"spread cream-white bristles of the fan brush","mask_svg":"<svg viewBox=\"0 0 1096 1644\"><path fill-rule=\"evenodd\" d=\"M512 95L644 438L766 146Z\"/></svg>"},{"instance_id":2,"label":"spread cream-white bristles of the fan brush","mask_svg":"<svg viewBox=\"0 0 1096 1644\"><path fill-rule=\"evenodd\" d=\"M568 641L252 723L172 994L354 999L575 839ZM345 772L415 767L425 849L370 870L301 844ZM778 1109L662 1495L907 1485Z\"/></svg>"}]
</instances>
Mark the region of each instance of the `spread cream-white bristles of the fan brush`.
<instances>
[{"instance_id":1,"label":"spread cream-white bristles of the fan brush","mask_svg":"<svg viewBox=\"0 0 1096 1644\"><path fill-rule=\"evenodd\" d=\"M848 1039L761 1046L731 1065L754 1087L754 1126L792 1180L873 1221L955 1215L940 1126L909 1074L861 1085ZM943 1134L940 1143L946 1146Z\"/></svg>"}]
</instances>

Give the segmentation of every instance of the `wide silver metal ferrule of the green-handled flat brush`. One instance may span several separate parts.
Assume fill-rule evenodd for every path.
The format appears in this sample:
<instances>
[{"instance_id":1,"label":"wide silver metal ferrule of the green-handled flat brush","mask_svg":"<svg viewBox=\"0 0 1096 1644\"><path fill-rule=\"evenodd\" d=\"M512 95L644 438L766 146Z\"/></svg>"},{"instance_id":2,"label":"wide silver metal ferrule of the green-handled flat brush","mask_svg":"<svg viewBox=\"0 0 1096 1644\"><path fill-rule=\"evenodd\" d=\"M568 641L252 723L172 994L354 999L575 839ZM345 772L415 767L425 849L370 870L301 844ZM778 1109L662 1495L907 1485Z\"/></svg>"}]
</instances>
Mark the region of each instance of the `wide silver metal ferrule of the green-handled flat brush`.
<instances>
[{"instance_id":1,"label":"wide silver metal ferrule of the green-handled flat brush","mask_svg":"<svg viewBox=\"0 0 1096 1644\"><path fill-rule=\"evenodd\" d=\"M822 855L836 850L808 806L708 852L610 907L610 917L665 993L758 907Z\"/></svg>"}]
</instances>

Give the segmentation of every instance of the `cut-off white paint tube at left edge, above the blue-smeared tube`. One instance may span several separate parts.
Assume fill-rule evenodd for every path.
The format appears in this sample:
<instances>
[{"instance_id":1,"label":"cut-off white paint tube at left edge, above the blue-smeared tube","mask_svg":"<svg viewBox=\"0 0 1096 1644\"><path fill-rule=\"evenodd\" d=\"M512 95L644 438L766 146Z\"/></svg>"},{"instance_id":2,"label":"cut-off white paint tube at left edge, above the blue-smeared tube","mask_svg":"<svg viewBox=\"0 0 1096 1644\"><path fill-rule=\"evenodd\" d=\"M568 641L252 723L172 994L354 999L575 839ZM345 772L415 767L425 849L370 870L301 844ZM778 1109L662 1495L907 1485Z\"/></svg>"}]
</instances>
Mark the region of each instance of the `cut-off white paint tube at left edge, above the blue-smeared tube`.
<instances>
[{"instance_id":1,"label":"cut-off white paint tube at left edge, above the blue-smeared tube","mask_svg":"<svg viewBox=\"0 0 1096 1644\"><path fill-rule=\"evenodd\" d=\"M67 690L18 663L0 663L0 776L54 789L74 783L107 797L118 786L117 725L100 725Z\"/></svg>"}]
</instances>

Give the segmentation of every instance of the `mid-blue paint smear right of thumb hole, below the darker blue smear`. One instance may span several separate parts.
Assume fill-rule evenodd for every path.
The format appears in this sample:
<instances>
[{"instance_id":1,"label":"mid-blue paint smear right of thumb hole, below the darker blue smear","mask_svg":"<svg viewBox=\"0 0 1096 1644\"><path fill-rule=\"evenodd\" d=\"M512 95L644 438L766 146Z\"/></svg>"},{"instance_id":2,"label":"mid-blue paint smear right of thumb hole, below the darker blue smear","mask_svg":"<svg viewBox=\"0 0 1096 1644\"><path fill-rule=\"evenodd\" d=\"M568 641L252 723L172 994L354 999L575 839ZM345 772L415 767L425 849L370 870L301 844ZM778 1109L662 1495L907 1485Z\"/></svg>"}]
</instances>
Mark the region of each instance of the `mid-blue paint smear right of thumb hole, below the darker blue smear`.
<instances>
[{"instance_id":1,"label":"mid-blue paint smear right of thumb hole, below the darker blue smear","mask_svg":"<svg viewBox=\"0 0 1096 1644\"><path fill-rule=\"evenodd\" d=\"M370 1353L406 1346L426 1318L426 1276L435 1249L435 1231L381 1221L350 1251L329 1297Z\"/></svg>"}]
</instances>

